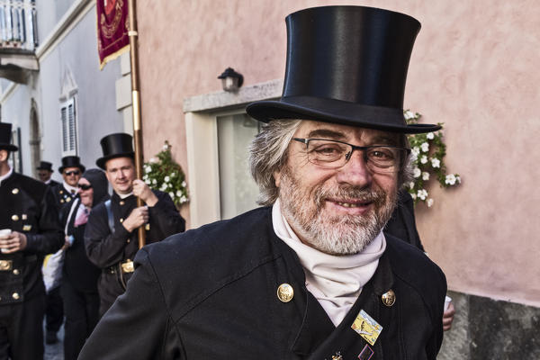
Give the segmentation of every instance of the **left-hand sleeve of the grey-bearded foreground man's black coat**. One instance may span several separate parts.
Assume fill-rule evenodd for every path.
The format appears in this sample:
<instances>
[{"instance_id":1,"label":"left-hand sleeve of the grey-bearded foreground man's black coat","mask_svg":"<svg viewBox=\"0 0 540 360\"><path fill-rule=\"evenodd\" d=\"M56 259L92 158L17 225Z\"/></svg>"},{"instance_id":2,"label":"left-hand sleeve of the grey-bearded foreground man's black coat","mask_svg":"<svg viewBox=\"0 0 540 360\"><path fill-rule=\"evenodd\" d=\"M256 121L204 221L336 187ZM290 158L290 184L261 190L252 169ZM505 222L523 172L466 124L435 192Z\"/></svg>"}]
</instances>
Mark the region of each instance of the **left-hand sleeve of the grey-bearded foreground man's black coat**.
<instances>
[{"instance_id":1,"label":"left-hand sleeve of the grey-bearded foreground man's black coat","mask_svg":"<svg viewBox=\"0 0 540 360\"><path fill-rule=\"evenodd\" d=\"M184 359L180 337L145 248L123 293L85 342L79 360Z\"/></svg>"}]
</instances>

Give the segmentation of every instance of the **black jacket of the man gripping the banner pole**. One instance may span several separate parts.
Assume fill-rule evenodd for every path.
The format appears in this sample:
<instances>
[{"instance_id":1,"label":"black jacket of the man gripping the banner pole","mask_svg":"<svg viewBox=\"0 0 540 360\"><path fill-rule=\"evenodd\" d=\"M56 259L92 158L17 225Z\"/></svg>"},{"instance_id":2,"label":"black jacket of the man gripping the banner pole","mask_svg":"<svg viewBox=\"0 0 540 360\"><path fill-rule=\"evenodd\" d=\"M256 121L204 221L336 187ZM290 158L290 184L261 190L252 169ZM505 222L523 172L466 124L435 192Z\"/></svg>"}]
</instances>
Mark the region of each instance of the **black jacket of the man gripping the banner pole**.
<instances>
[{"instance_id":1,"label":"black jacket of the man gripping the banner pole","mask_svg":"<svg viewBox=\"0 0 540 360\"><path fill-rule=\"evenodd\" d=\"M184 231L185 221L175 208L174 202L167 193L152 190L157 196L157 203L148 207L149 228L146 242L160 241L170 235ZM137 199L131 195L123 200L117 193L111 197L111 208L114 218L114 232L111 233L107 209L104 202L96 205L90 212L85 229L86 255L95 266L106 270L117 266L125 260L133 260L139 250L137 230L128 232L121 225L131 211L137 207ZM126 276L129 278L129 276ZM117 274L103 271L98 283L102 303L110 306L124 292ZM106 306L106 307L108 307Z\"/></svg>"}]
</instances>

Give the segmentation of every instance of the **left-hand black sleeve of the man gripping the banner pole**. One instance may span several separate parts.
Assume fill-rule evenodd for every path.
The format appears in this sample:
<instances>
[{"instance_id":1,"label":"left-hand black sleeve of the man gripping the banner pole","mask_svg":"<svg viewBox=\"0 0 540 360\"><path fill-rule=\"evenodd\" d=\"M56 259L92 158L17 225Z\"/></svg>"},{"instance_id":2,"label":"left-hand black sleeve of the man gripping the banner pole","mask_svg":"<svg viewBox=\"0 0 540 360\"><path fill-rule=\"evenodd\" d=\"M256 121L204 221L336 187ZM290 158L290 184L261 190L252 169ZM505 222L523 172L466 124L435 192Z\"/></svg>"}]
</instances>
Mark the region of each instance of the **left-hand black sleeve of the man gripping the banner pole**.
<instances>
[{"instance_id":1,"label":"left-hand black sleeve of the man gripping the banner pole","mask_svg":"<svg viewBox=\"0 0 540 360\"><path fill-rule=\"evenodd\" d=\"M109 229L107 209L100 203L95 206L85 228L85 249L90 261L99 268L118 264L130 232L123 226L117 226L114 232Z\"/></svg>"}]
</instances>

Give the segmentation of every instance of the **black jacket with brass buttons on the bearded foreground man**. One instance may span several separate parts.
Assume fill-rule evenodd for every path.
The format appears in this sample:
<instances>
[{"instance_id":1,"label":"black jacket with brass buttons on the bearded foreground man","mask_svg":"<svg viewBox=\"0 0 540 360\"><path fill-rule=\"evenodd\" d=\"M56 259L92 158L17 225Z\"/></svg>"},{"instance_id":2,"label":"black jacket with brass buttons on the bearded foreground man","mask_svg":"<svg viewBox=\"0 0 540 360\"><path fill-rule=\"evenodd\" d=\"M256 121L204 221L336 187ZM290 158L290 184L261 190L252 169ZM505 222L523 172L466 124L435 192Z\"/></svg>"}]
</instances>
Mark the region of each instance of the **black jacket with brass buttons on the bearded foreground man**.
<instances>
[{"instance_id":1,"label":"black jacket with brass buttons on the bearded foreground man","mask_svg":"<svg viewBox=\"0 0 540 360\"><path fill-rule=\"evenodd\" d=\"M446 279L419 249L387 237L374 277L335 328L275 235L271 208L144 247L128 290L86 341L90 359L343 359L366 346L351 325L364 310L383 326L375 359L435 359ZM280 284L291 302L280 302ZM396 302L383 304L392 289Z\"/></svg>"}]
</instances>

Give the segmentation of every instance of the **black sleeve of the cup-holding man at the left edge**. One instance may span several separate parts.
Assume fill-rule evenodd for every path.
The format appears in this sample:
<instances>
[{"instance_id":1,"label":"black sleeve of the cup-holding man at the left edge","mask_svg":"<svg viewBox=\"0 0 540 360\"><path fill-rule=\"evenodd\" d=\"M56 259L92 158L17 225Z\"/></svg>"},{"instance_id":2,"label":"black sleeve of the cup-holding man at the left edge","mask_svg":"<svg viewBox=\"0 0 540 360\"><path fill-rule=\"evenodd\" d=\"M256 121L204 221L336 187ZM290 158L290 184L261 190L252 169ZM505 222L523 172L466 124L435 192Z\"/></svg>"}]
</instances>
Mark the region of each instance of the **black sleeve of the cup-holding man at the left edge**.
<instances>
[{"instance_id":1,"label":"black sleeve of the cup-holding man at the left edge","mask_svg":"<svg viewBox=\"0 0 540 360\"><path fill-rule=\"evenodd\" d=\"M58 219L54 196L47 188L40 204L39 232L26 234L25 252L47 255L55 253L64 245L64 231Z\"/></svg>"}]
</instances>

